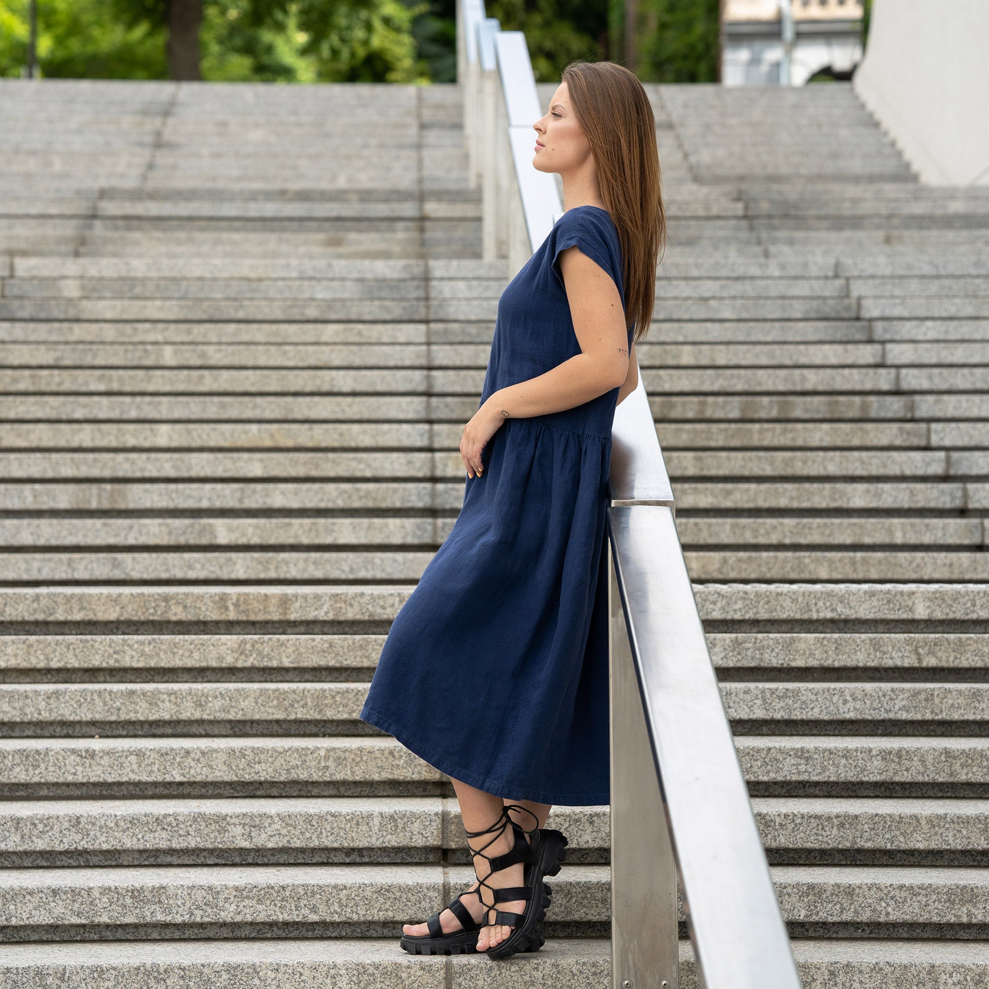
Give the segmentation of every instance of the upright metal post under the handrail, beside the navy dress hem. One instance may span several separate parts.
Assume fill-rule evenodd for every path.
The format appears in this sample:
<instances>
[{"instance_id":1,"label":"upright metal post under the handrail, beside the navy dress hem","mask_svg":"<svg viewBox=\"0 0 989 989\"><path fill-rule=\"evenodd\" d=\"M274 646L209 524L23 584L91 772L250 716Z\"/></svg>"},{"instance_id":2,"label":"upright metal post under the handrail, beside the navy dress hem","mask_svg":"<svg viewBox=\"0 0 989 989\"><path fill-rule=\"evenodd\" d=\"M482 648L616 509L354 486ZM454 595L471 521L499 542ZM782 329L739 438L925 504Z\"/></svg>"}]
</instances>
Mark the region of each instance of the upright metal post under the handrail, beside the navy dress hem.
<instances>
[{"instance_id":1,"label":"upright metal post under the handrail, beside the navy dress hem","mask_svg":"<svg viewBox=\"0 0 989 989\"><path fill-rule=\"evenodd\" d=\"M635 509L633 509L635 510ZM676 864L610 540L611 985L677 989Z\"/></svg>"}]
</instances>

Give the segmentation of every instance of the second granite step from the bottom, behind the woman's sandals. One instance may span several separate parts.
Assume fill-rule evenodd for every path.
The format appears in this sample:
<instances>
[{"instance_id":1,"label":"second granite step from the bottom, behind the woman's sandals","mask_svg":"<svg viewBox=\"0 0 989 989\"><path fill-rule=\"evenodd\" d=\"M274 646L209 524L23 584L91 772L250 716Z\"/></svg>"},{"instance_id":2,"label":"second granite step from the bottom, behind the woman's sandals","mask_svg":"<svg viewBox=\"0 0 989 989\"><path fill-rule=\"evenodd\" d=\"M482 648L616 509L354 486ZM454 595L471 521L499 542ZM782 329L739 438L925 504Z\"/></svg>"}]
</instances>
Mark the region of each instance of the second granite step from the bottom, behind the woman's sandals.
<instances>
[{"instance_id":1,"label":"second granite step from the bottom, behind the woman's sandals","mask_svg":"<svg viewBox=\"0 0 989 989\"><path fill-rule=\"evenodd\" d=\"M925 938L982 936L989 869L808 866L771 869L784 919L800 933ZM8 942L119 938L375 937L401 933L466 889L470 866L187 865L0 871L0 936ZM607 921L609 870L569 865L553 877L547 922ZM682 917L682 915L681 915Z\"/></svg>"}]
</instances>

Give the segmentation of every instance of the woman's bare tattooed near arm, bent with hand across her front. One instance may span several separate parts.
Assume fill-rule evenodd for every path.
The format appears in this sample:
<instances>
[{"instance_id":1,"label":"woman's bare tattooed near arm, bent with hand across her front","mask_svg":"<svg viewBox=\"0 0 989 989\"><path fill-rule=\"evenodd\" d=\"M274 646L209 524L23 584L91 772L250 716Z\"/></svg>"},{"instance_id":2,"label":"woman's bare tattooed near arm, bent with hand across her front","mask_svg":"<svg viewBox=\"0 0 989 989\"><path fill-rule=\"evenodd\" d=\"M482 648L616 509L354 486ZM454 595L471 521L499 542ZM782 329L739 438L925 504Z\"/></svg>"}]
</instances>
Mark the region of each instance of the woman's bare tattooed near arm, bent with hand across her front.
<instances>
[{"instance_id":1,"label":"woman's bare tattooed near arm, bent with hand across her front","mask_svg":"<svg viewBox=\"0 0 989 989\"><path fill-rule=\"evenodd\" d=\"M578 247L561 252L560 270L581 353L545 374L499 389L478 409L460 442L469 477L481 474L481 451L505 419L584 405L627 382L628 329L615 283Z\"/></svg>"}]
</instances>

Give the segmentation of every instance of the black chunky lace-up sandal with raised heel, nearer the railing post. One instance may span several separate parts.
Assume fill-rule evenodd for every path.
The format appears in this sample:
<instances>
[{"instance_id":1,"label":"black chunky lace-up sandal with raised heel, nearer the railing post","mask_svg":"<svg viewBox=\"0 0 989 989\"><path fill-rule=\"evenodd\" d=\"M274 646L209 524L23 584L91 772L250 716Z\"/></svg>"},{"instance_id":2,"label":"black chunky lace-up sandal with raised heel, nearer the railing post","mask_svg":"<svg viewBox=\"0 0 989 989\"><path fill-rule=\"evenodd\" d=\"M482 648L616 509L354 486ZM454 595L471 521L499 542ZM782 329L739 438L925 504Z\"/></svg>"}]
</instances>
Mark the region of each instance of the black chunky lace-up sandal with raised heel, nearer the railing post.
<instances>
[{"instance_id":1,"label":"black chunky lace-up sandal with raised heel, nearer the railing post","mask_svg":"<svg viewBox=\"0 0 989 989\"><path fill-rule=\"evenodd\" d=\"M538 951L543 946L542 923L552 895L550 887L543 882L543 878L547 875L556 875L567 857L567 839L559 831L549 828L522 828L508 816L509 810L525 811L533 820L537 820L535 814L521 804L505 804L500 817L490 828L467 832L469 839L494 835L492 840L479 851L471 850L472 855L480 855L487 859L489 864L488 875L484 879L478 879L478 897L485 906L485 923L490 926L504 924L513 928L511 934L501 944L487 949L487 954L492 958L510 958L521 951ZM485 850L491 848L509 825L515 835L515 844L511 850L494 858L486 855ZM528 836L532 836L531 844L527 840ZM500 872L519 862L523 863L522 874L525 885L495 889L488 883L487 880L494 872ZM476 868L475 874L477 874ZM491 903L485 902L481 892L483 889L491 891ZM499 903L509 903L512 900L526 902L524 914L497 909ZM491 919L493 910L494 920Z\"/></svg>"}]
</instances>

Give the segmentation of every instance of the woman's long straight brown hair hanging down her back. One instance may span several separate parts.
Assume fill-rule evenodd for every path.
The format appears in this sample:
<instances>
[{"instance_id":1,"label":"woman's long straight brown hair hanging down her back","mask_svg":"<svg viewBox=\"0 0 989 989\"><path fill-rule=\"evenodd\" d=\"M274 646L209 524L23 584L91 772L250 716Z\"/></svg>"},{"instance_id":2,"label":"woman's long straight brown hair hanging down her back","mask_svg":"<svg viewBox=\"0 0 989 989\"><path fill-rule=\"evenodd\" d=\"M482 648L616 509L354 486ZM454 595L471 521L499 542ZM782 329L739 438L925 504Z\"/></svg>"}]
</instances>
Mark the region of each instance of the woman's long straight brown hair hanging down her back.
<instances>
[{"instance_id":1,"label":"woman's long straight brown hair hanging down her back","mask_svg":"<svg viewBox=\"0 0 989 989\"><path fill-rule=\"evenodd\" d=\"M642 83L623 65L573 62L563 70L563 81L618 231L625 318L634 324L637 342L653 318L656 265L667 239L656 118Z\"/></svg>"}]
</instances>

